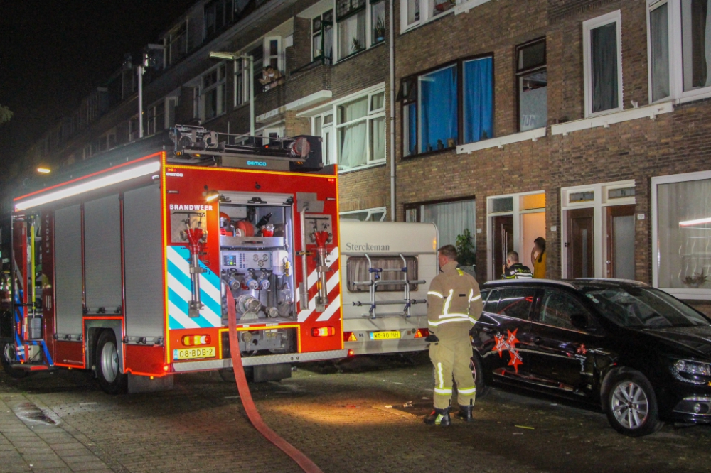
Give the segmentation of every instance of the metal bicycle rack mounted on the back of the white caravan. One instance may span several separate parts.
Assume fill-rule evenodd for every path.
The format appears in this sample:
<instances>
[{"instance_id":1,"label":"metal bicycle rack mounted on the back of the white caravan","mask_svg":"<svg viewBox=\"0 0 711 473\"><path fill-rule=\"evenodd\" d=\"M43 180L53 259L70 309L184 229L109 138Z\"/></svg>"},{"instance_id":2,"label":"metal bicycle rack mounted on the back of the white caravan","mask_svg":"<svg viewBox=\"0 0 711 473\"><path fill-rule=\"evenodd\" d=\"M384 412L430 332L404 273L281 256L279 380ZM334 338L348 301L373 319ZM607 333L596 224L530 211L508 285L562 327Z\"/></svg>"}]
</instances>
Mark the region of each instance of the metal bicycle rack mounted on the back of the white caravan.
<instances>
[{"instance_id":1,"label":"metal bicycle rack mounted on the back of the white caravan","mask_svg":"<svg viewBox=\"0 0 711 473\"><path fill-rule=\"evenodd\" d=\"M353 305L355 307L362 307L363 305L368 305L368 315L363 315L363 317L368 317L370 319L378 318L377 310L378 305L400 305L404 304L405 307L402 308L402 312L387 312L380 314L380 317L385 315L399 315L405 318L410 318L410 308L412 304L424 304L427 303L427 299L410 299L410 284L425 284L427 281L423 279L410 280L407 278L407 259L402 254L399 255L402 259L402 268L375 268L373 267L373 260L370 259L370 255L365 253L365 259L368 260L368 281L355 281L353 286L368 286L368 292L370 293L370 301L368 303L363 303L360 301L355 301ZM380 276L383 273L402 273L402 279L381 279ZM375 292L378 286L404 286L402 299L395 300L375 300Z\"/></svg>"}]
</instances>

